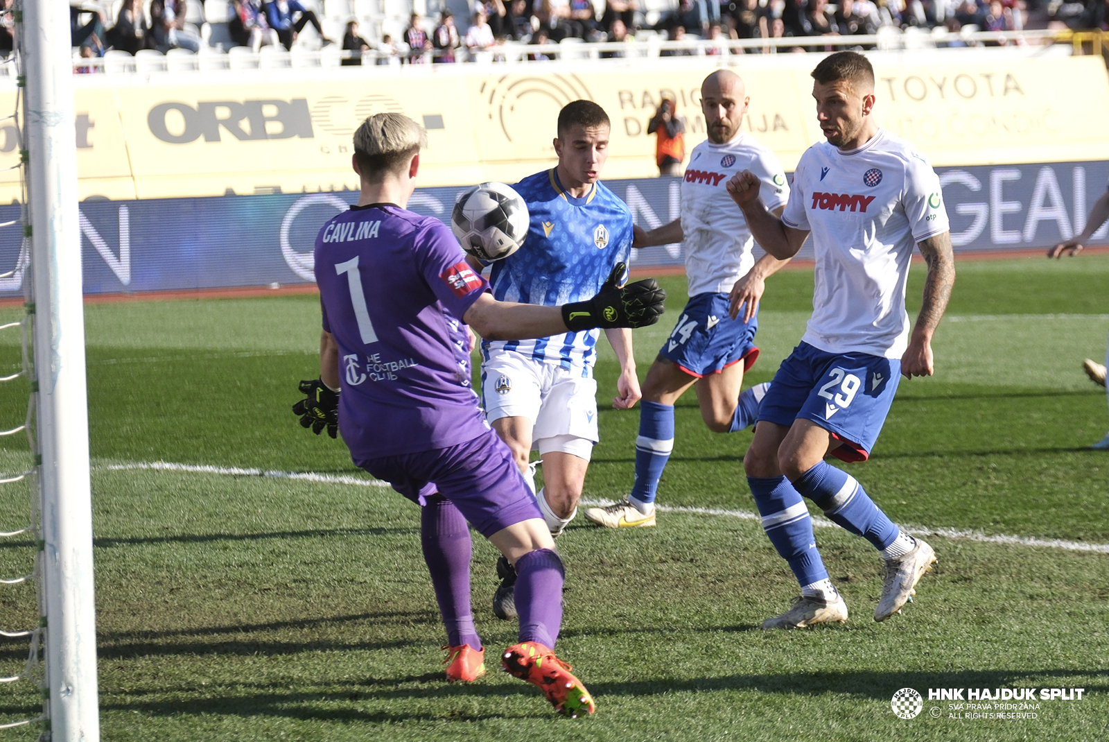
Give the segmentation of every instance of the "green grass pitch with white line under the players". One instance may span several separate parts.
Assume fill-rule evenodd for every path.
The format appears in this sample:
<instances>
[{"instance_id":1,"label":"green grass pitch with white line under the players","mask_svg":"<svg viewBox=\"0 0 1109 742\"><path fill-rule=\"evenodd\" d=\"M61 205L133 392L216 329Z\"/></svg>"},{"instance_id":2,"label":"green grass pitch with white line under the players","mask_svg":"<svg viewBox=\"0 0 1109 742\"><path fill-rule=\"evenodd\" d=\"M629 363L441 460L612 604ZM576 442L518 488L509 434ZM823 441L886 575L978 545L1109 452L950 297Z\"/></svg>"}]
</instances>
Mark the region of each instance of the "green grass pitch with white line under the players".
<instances>
[{"instance_id":1,"label":"green grass pitch with white line under the players","mask_svg":"<svg viewBox=\"0 0 1109 742\"><path fill-rule=\"evenodd\" d=\"M960 262L937 333L937 374L902 382L866 464L851 471L896 521L919 532L976 531L1109 543L1103 390L1081 373L1109 328L1109 256ZM910 315L923 282L910 278ZM678 318L637 332L640 376ZM767 380L801 337L811 271L769 282ZM14 309L0 319L16 318ZM938 569L904 616L872 620L879 559L818 528L846 626L764 633L796 586L752 514L742 455L679 403L676 445L655 529L614 532L579 518L559 540L567 611L559 653L594 693L593 718L556 716L530 685L494 672L515 623L489 609L495 553L475 542L474 604L490 673L442 680L439 624L415 506L383 487L217 472L193 466L368 480L342 441L289 411L314 377L314 297L95 304L85 308L102 739L252 740L1098 740L1109 738L1109 553L1028 541L933 536ZM0 337L0 373L18 364ZM624 495L635 411L608 408L615 364L602 355L601 444L590 500ZM0 386L0 428L22 419L27 386ZM0 469L27 465L23 441ZM112 468L116 467L116 468ZM0 530L26 518L26 489L0 488ZM0 577L30 571L31 545L0 542ZM33 588L0 586L0 629L34 621ZM2 639L0 675L26 659ZM1083 688L1041 701L1036 719L974 720L925 701L902 720L901 688ZM35 690L0 690L0 723L34 715ZM939 709L939 718L929 714ZM966 716L966 711L963 713ZM31 740L37 730L0 732Z\"/></svg>"}]
</instances>

